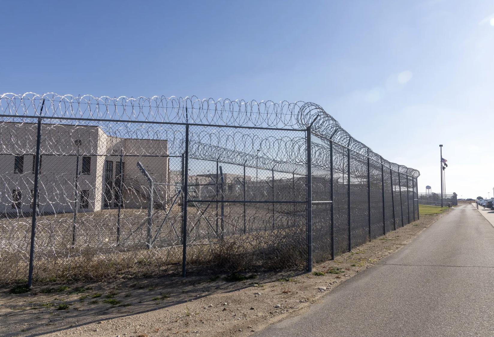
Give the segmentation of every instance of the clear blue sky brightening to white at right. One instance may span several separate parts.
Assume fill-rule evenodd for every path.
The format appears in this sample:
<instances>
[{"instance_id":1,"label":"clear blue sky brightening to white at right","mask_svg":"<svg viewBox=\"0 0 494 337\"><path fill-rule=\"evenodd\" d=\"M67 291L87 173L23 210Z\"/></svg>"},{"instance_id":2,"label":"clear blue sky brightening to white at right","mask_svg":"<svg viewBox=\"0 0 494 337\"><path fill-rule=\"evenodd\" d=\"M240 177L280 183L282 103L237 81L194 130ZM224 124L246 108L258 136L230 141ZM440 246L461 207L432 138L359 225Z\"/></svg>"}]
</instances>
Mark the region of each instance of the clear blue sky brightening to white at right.
<instances>
[{"instance_id":1,"label":"clear blue sky brightening to white at right","mask_svg":"<svg viewBox=\"0 0 494 337\"><path fill-rule=\"evenodd\" d=\"M419 191L439 191L442 143L447 190L493 196L491 18L487 0L2 1L0 91L312 101Z\"/></svg>"}]
</instances>

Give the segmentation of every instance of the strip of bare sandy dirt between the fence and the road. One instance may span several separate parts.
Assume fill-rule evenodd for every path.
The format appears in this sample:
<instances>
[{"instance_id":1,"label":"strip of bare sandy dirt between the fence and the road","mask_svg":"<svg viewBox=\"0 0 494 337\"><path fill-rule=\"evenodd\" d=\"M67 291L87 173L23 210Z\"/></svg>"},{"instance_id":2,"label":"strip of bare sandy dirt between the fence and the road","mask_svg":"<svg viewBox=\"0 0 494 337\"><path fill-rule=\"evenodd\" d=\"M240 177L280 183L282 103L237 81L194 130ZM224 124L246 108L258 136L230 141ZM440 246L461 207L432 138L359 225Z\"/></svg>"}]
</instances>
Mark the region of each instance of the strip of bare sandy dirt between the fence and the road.
<instances>
[{"instance_id":1,"label":"strip of bare sandy dirt between the fence and the road","mask_svg":"<svg viewBox=\"0 0 494 337\"><path fill-rule=\"evenodd\" d=\"M1 336L248 336L298 315L339 284L409 243L420 220L314 266L308 273L192 276L63 284L0 293ZM228 277L230 276L230 278ZM250 276L250 278L249 278Z\"/></svg>"}]
</instances>

